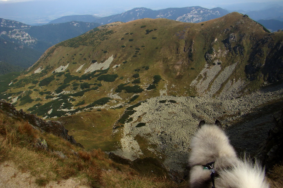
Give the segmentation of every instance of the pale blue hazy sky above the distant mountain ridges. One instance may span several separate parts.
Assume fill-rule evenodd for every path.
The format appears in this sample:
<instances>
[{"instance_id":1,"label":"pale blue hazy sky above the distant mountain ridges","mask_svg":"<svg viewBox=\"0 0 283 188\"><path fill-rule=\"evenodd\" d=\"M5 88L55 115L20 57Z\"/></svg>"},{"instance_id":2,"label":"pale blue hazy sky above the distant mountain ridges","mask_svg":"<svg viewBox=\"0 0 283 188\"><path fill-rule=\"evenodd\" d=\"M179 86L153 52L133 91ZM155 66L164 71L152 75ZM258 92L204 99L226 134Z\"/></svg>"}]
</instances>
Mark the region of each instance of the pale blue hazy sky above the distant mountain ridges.
<instances>
[{"instance_id":1,"label":"pale blue hazy sky above the distant mountain ridges","mask_svg":"<svg viewBox=\"0 0 283 188\"><path fill-rule=\"evenodd\" d=\"M238 6L231 4L237 3ZM153 10L201 6L203 8L244 9L239 3L283 3L282 0L0 0L0 18L12 19L25 24L47 23L53 19L78 14L100 17L118 14L137 7ZM253 7L253 6L250 6Z\"/></svg>"}]
</instances>

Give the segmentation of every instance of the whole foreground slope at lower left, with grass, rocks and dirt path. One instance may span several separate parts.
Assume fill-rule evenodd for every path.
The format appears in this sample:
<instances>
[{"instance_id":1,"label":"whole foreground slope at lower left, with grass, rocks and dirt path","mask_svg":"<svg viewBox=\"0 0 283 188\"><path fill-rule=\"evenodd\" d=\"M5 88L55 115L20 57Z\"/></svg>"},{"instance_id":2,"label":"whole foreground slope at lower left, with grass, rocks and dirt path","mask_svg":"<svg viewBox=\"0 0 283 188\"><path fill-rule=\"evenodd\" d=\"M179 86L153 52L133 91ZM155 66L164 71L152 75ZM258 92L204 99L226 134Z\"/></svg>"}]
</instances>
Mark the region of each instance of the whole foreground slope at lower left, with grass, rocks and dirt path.
<instances>
[{"instance_id":1,"label":"whole foreground slope at lower left, with grass, rocks and dirt path","mask_svg":"<svg viewBox=\"0 0 283 188\"><path fill-rule=\"evenodd\" d=\"M101 150L86 152L67 141L66 135L60 135L64 127L58 126L58 122L47 125L3 101L0 101L0 119L0 187L175 185L171 180L117 164Z\"/></svg>"}]
</instances>

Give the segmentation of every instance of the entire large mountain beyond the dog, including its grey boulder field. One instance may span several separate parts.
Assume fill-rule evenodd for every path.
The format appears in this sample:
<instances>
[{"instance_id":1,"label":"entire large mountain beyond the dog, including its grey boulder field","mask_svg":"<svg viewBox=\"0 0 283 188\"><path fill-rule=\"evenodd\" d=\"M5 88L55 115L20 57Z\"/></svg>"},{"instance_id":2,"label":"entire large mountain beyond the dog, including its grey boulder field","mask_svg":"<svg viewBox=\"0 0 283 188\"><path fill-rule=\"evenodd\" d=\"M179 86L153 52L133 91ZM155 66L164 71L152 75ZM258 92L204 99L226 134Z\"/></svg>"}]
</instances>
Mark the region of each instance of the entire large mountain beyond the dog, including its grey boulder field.
<instances>
[{"instance_id":1,"label":"entire large mountain beyond the dog, including its grey boulder field","mask_svg":"<svg viewBox=\"0 0 283 188\"><path fill-rule=\"evenodd\" d=\"M197 24L115 22L52 46L11 75L1 98L57 118L88 150L154 157L180 172L200 119L240 122L237 135L254 152L263 124L271 126L262 122L264 107L282 104L282 39L239 13ZM261 122L245 124L248 115Z\"/></svg>"}]
</instances>

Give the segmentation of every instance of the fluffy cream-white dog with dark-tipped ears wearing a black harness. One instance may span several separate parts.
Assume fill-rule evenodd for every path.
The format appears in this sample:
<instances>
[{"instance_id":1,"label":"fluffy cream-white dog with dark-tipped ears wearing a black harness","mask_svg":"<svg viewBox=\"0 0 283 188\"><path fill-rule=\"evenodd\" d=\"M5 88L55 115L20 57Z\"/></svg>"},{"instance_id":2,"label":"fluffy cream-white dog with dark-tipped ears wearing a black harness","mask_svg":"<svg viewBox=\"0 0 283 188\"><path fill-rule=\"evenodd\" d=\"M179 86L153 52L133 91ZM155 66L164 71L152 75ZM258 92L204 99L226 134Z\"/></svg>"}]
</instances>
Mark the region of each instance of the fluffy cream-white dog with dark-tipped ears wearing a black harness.
<instances>
[{"instance_id":1,"label":"fluffy cream-white dog with dark-tipped ears wearing a black harness","mask_svg":"<svg viewBox=\"0 0 283 188\"><path fill-rule=\"evenodd\" d=\"M238 159L221 123L201 121L191 139L191 188L268 188L258 163ZM214 184L215 183L215 184Z\"/></svg>"}]
</instances>

